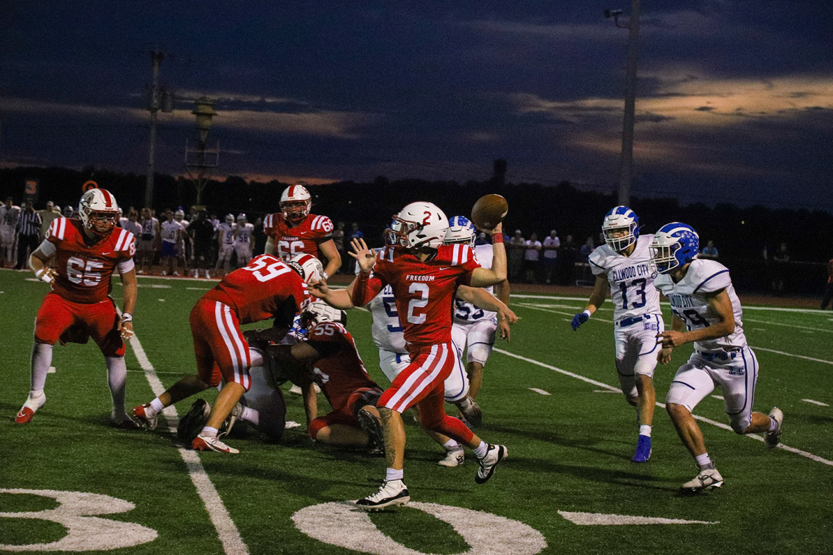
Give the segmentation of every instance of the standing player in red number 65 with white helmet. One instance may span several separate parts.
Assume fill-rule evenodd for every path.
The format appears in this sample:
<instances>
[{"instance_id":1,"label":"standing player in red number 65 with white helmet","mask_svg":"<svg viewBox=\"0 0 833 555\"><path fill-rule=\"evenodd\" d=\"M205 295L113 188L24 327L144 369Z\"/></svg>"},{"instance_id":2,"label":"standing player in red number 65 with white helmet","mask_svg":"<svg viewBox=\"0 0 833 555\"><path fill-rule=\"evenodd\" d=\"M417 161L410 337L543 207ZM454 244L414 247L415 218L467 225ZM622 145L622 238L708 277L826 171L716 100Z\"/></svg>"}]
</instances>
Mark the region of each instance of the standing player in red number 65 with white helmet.
<instances>
[{"instance_id":1,"label":"standing player in red number 65 with white helmet","mask_svg":"<svg viewBox=\"0 0 833 555\"><path fill-rule=\"evenodd\" d=\"M107 364L112 394L112 423L119 428L137 428L124 410L127 366L124 341L133 334L136 306L136 238L116 227L120 212L116 198L104 189L84 193L78 205L80 220L57 218L46 239L32 252L29 267L35 276L52 284L35 320L32 348L32 389L15 422L27 424L46 403L43 393L52 364L56 341L86 343L88 337L101 349ZM110 298L111 277L118 269L124 285L121 317Z\"/></svg>"}]
</instances>

